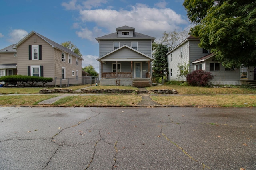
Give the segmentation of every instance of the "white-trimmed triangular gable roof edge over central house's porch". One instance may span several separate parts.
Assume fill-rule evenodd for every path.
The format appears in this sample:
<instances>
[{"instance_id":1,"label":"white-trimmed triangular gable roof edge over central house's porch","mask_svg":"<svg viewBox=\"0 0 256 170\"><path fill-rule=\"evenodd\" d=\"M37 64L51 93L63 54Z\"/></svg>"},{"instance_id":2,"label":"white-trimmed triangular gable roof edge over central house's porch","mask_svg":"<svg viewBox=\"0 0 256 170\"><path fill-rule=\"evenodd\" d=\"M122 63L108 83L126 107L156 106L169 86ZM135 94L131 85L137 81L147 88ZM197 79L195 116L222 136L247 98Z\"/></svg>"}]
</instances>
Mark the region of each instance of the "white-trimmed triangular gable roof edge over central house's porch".
<instances>
[{"instance_id":1,"label":"white-trimmed triangular gable roof edge over central house's porch","mask_svg":"<svg viewBox=\"0 0 256 170\"><path fill-rule=\"evenodd\" d=\"M116 51L119 51L120 49L123 49L123 48L128 48L128 49L130 49L130 50L132 50L132 51L134 51L134 52L136 52L136 53L138 53L138 54L140 54L140 55L142 55L146 58L144 58L144 59L142 59L142 58L138 58L138 59L122 59L122 58L120 58L120 59L104 59L104 57L106 57L106 56L108 56L112 53L115 53ZM146 54L144 54L144 53L142 53L142 52L140 52L140 51L138 51L138 50L136 50L136 49L134 49L134 48L132 48L128 45L122 45L121 47L119 47L117 49L114 49L113 51L110 51L109 53L106 53L105 55L102 55L97 60L98 61L131 61L131 60L132 61L152 61L154 59L153 59L153 57L150 57L149 55L146 55Z\"/></svg>"}]
</instances>

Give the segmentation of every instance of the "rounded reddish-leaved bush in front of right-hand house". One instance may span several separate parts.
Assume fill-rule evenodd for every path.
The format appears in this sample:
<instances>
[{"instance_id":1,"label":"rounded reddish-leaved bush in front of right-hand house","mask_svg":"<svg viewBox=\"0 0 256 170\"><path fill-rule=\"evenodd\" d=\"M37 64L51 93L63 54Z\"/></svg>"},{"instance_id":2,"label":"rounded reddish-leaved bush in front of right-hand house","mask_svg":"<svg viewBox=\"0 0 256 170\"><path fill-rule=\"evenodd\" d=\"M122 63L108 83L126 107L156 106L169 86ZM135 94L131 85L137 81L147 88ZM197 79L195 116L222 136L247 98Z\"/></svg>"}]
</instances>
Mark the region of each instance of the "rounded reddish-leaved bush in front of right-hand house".
<instances>
[{"instance_id":1,"label":"rounded reddish-leaved bush in front of right-hand house","mask_svg":"<svg viewBox=\"0 0 256 170\"><path fill-rule=\"evenodd\" d=\"M194 70L187 75L187 82L192 86L207 86L214 76L204 70Z\"/></svg>"}]
</instances>

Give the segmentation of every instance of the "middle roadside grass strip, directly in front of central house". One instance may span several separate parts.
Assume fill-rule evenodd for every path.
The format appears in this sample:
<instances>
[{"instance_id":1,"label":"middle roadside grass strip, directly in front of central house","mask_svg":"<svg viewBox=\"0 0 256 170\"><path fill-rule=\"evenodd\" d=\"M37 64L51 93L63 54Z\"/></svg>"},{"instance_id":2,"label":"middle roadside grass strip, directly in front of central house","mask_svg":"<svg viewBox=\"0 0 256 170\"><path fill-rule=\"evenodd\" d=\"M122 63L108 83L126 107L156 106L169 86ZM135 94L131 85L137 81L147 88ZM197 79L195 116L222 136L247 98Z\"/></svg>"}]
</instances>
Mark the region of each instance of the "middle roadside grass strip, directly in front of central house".
<instances>
[{"instance_id":1,"label":"middle roadside grass strip, directly in front of central house","mask_svg":"<svg viewBox=\"0 0 256 170\"><path fill-rule=\"evenodd\" d=\"M141 101L138 95L68 96L55 102L58 106L131 106Z\"/></svg>"}]
</instances>

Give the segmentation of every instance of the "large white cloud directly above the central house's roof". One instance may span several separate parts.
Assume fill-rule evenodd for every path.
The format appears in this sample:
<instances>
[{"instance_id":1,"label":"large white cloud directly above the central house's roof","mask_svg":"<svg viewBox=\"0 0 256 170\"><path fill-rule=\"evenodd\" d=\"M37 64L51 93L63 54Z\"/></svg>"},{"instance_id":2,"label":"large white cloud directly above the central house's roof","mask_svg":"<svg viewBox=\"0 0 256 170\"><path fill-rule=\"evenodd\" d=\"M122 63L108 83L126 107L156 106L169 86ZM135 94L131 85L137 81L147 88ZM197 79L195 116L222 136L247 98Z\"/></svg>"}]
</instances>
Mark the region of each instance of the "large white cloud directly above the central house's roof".
<instances>
[{"instance_id":1,"label":"large white cloud directly above the central house's roof","mask_svg":"<svg viewBox=\"0 0 256 170\"><path fill-rule=\"evenodd\" d=\"M128 25L134 27L136 32L156 38L161 37L164 31L182 31L180 25L189 24L180 14L170 8L149 8L144 4L136 4L131 10L80 10L80 18L84 23L95 23L96 27L106 28L108 33L115 32L117 27ZM94 41L94 38L98 37L96 33L99 33L99 31L95 32L99 30L96 27L92 31L88 27L82 28L77 34L79 37ZM106 33L101 35L104 34Z\"/></svg>"}]
</instances>

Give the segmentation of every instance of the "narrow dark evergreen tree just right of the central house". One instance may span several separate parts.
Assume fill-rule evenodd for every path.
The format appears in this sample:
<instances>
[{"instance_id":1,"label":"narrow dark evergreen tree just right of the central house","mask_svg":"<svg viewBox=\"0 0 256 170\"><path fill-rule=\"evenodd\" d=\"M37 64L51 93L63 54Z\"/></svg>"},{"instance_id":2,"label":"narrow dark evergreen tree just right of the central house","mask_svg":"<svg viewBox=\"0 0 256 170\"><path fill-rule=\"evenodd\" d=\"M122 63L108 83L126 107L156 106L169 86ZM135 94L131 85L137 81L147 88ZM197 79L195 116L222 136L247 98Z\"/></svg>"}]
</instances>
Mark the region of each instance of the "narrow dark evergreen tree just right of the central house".
<instances>
[{"instance_id":1,"label":"narrow dark evergreen tree just right of the central house","mask_svg":"<svg viewBox=\"0 0 256 170\"><path fill-rule=\"evenodd\" d=\"M156 47L156 51L154 52L154 60L153 60L153 77L163 77L168 73L168 61L167 54L168 47L167 45L160 44Z\"/></svg>"}]
</instances>

